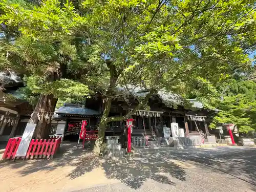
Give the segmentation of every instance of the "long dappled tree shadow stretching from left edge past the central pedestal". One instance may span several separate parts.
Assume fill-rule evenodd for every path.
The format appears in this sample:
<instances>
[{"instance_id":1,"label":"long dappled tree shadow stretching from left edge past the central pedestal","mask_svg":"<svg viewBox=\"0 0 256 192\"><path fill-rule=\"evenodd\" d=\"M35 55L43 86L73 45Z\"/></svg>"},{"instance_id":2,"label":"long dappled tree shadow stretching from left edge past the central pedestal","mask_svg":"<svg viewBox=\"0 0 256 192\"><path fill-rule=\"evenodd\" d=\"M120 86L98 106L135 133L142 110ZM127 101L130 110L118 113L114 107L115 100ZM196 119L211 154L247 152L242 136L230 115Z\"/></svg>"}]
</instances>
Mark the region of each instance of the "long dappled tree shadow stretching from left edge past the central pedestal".
<instances>
[{"instance_id":1,"label":"long dappled tree shadow stretching from left edge past the central pedestal","mask_svg":"<svg viewBox=\"0 0 256 192\"><path fill-rule=\"evenodd\" d=\"M61 144L61 151L54 159L50 160L15 160L15 162L0 163L1 167L9 166L18 169L18 174L26 176L39 173L40 170L54 171L56 168L72 166L66 177L75 179L91 172L97 167L104 170L108 179L117 179L131 188L138 189L147 180L175 185L177 180L185 181L185 168L169 161L168 154L158 151L152 154L137 154L133 157L125 157L117 160L104 159L91 153L91 148L76 150L73 143Z\"/></svg>"}]
</instances>

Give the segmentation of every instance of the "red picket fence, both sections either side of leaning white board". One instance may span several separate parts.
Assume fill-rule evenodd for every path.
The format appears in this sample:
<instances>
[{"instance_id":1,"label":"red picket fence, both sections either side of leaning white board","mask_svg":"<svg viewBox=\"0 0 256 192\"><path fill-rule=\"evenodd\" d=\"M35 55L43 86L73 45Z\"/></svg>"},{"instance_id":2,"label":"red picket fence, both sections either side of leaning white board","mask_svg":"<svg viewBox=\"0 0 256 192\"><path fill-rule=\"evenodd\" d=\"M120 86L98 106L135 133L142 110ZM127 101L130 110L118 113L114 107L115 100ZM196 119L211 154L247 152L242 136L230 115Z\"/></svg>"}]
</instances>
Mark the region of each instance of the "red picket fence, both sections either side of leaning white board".
<instances>
[{"instance_id":1,"label":"red picket fence, both sections either side of leaning white board","mask_svg":"<svg viewBox=\"0 0 256 192\"><path fill-rule=\"evenodd\" d=\"M6 146L3 159L14 159L21 138L10 138ZM26 154L26 159L53 158L61 143L61 137L57 139L32 139Z\"/></svg>"}]
</instances>

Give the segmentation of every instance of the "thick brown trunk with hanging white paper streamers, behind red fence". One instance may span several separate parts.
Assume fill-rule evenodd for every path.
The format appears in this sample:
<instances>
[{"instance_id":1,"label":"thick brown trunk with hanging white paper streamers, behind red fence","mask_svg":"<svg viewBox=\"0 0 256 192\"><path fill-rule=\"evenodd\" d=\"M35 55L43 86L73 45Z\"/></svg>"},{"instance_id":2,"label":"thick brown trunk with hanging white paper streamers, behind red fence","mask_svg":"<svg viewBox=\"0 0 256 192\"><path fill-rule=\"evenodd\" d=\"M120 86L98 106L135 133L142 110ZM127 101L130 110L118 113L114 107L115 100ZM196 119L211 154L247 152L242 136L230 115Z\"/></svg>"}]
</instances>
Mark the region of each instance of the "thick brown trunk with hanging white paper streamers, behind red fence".
<instances>
[{"instance_id":1,"label":"thick brown trunk with hanging white paper streamers, behind red fence","mask_svg":"<svg viewBox=\"0 0 256 192\"><path fill-rule=\"evenodd\" d=\"M28 122L37 124L34 132L34 137L36 139L48 139L51 127L51 118L54 113L57 100L58 99L54 98L53 95L40 95L35 106L35 110ZM38 113L40 115L40 120L38 119ZM49 119L46 119L47 113Z\"/></svg>"}]
</instances>

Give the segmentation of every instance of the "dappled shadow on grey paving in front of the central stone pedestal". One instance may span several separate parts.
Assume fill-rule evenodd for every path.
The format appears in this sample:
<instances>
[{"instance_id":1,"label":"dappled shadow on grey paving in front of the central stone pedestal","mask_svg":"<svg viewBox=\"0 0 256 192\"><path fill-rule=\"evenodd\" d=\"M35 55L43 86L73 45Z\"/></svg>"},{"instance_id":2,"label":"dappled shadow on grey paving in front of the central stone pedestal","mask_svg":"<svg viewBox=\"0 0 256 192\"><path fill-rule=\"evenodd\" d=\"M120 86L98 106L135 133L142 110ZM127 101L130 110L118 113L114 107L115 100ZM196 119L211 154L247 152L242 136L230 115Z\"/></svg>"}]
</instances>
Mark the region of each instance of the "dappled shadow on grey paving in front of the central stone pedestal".
<instances>
[{"instance_id":1,"label":"dappled shadow on grey paving in front of the central stone pedestal","mask_svg":"<svg viewBox=\"0 0 256 192\"><path fill-rule=\"evenodd\" d=\"M175 185L176 180L185 181L186 176L183 167L169 161L161 152L138 154L119 162L106 160L102 167L107 178L118 179L134 189L140 188L147 179Z\"/></svg>"}]
</instances>

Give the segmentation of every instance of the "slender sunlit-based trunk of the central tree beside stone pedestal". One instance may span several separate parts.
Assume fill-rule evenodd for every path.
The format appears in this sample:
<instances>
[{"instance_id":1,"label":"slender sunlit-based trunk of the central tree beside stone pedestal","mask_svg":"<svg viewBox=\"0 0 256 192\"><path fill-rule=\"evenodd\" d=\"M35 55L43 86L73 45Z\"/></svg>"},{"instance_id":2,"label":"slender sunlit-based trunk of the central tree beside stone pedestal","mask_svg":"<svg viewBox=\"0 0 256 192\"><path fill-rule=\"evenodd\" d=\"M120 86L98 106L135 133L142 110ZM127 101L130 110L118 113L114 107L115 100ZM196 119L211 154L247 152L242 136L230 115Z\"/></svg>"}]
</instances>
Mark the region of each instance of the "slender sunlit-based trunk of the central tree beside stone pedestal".
<instances>
[{"instance_id":1,"label":"slender sunlit-based trunk of the central tree beside stone pedestal","mask_svg":"<svg viewBox=\"0 0 256 192\"><path fill-rule=\"evenodd\" d=\"M94 148L93 148L93 152L100 154L101 151L101 146L104 142L104 138L105 138L105 130L106 130L106 118L108 118L109 113L110 113L110 108L111 108L111 99L110 98L106 98L105 99L105 106L104 106L104 111L99 123L99 133L98 133L98 138L95 142Z\"/></svg>"}]
</instances>

